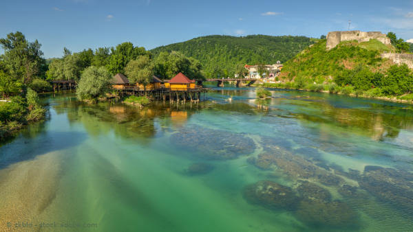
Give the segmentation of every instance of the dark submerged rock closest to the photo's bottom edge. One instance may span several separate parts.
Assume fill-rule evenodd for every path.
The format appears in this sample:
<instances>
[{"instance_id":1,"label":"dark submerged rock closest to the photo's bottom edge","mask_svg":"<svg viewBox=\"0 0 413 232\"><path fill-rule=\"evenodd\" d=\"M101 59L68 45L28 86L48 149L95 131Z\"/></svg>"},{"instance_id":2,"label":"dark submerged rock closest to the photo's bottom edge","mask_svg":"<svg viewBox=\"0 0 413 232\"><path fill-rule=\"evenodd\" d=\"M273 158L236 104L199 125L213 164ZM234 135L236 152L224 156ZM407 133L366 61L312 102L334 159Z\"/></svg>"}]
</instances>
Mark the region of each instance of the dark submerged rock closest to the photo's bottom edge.
<instances>
[{"instance_id":1,"label":"dark submerged rock closest to the photo's bottom edge","mask_svg":"<svg viewBox=\"0 0 413 232\"><path fill-rule=\"evenodd\" d=\"M297 218L317 226L344 227L355 224L357 214L340 201L302 200L296 211Z\"/></svg>"}]
</instances>

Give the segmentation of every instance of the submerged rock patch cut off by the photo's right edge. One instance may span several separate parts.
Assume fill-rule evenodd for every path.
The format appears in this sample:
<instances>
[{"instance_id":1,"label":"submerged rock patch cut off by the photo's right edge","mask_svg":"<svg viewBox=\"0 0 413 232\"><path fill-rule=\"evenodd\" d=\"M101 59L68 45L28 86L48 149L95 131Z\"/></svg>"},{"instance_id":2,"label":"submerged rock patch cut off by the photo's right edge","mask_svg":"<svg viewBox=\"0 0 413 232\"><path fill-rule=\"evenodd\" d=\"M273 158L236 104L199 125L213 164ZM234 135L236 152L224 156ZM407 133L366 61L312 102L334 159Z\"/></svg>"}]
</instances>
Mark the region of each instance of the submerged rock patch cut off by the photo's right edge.
<instances>
[{"instance_id":1,"label":"submerged rock patch cut off by the photo's right edge","mask_svg":"<svg viewBox=\"0 0 413 232\"><path fill-rule=\"evenodd\" d=\"M396 209L407 213L413 211L413 174L410 172L366 166L359 185Z\"/></svg>"}]
</instances>

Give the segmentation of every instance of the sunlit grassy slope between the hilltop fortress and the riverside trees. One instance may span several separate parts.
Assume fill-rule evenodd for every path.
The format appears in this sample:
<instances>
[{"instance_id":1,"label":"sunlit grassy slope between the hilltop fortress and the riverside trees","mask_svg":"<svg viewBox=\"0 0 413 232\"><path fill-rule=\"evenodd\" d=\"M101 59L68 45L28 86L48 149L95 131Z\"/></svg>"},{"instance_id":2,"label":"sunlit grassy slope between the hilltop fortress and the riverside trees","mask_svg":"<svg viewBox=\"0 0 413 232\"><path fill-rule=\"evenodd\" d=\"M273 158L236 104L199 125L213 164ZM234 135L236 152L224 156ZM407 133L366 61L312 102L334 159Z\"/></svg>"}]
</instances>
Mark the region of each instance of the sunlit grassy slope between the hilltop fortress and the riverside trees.
<instances>
[{"instance_id":1,"label":"sunlit grassy slope between the hilltop fortress and the riverside trees","mask_svg":"<svg viewBox=\"0 0 413 232\"><path fill-rule=\"evenodd\" d=\"M380 54L385 51L394 51L394 47L383 45L378 40L364 43L345 41L328 51L326 40L320 40L288 60L281 77L288 80L305 78L307 82L322 84L338 76L346 76L356 67L384 73L392 65L390 60L381 59Z\"/></svg>"}]
</instances>

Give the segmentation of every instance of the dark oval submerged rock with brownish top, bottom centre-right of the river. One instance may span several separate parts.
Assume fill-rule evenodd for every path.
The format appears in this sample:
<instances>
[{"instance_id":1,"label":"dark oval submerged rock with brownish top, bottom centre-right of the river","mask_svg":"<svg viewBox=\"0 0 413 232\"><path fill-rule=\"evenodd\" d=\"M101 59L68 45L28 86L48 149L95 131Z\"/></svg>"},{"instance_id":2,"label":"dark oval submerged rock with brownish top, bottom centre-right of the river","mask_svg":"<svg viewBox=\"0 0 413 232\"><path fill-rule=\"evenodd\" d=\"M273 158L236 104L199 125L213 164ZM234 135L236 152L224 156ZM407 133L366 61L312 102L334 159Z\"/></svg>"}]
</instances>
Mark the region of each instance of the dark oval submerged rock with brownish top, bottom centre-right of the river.
<instances>
[{"instance_id":1,"label":"dark oval submerged rock with brownish top, bottom centre-right of the river","mask_svg":"<svg viewBox=\"0 0 413 232\"><path fill-rule=\"evenodd\" d=\"M290 187L272 181L260 181L244 189L248 202L262 205L269 209L294 210L299 198Z\"/></svg>"}]
</instances>

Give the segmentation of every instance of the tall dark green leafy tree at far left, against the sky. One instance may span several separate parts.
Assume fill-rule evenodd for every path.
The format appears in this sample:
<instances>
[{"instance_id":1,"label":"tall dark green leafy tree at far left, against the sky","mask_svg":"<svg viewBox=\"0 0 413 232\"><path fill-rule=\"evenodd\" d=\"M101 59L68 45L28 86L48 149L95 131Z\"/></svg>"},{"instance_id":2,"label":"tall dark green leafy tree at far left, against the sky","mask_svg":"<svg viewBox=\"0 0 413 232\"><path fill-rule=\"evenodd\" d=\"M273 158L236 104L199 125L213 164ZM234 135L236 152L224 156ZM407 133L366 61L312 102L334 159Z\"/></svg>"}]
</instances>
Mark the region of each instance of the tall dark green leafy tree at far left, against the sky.
<instances>
[{"instance_id":1,"label":"tall dark green leafy tree at far left, against the sky","mask_svg":"<svg viewBox=\"0 0 413 232\"><path fill-rule=\"evenodd\" d=\"M28 84L34 76L39 76L45 60L39 41L29 42L21 32L10 33L0 38L3 47L3 64L13 78Z\"/></svg>"}]
</instances>

